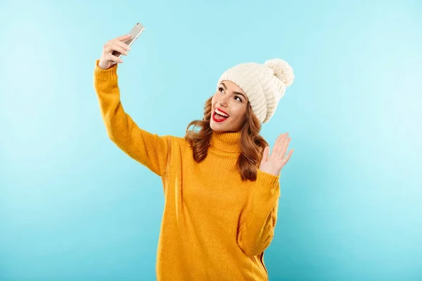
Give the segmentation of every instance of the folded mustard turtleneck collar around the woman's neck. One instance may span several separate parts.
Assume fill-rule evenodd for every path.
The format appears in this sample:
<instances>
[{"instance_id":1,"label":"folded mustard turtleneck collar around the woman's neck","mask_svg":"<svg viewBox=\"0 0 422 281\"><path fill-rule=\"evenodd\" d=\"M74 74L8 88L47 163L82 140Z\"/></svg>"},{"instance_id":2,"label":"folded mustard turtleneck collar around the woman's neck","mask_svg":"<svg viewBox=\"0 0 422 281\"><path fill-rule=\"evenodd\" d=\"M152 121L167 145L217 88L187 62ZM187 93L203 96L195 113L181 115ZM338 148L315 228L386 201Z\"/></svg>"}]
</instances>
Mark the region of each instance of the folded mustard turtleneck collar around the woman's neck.
<instances>
[{"instance_id":1,"label":"folded mustard turtleneck collar around the woman's neck","mask_svg":"<svg viewBox=\"0 0 422 281\"><path fill-rule=\"evenodd\" d=\"M237 156L241 153L241 132L212 131L210 150L219 155Z\"/></svg>"}]
</instances>

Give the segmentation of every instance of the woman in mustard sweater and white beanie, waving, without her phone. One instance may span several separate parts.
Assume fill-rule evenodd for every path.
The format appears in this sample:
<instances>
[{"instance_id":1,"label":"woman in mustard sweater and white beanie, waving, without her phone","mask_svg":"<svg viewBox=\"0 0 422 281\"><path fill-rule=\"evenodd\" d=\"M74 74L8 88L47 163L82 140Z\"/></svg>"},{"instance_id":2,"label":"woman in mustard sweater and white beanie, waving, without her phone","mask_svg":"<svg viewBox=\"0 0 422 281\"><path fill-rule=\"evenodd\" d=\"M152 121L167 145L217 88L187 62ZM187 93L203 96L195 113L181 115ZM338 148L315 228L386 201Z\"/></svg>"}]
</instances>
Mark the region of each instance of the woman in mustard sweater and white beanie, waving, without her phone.
<instances>
[{"instance_id":1,"label":"woman in mustard sweater and white beanie, waving, without her phone","mask_svg":"<svg viewBox=\"0 0 422 281\"><path fill-rule=\"evenodd\" d=\"M162 178L158 280L268 280L264 250L276 226L279 177L288 133L271 155L259 133L276 110L293 70L283 60L226 70L186 136L158 136L124 112L117 86L118 51L129 35L108 41L96 60L94 87L110 139ZM189 129L199 127L199 131Z\"/></svg>"}]
</instances>

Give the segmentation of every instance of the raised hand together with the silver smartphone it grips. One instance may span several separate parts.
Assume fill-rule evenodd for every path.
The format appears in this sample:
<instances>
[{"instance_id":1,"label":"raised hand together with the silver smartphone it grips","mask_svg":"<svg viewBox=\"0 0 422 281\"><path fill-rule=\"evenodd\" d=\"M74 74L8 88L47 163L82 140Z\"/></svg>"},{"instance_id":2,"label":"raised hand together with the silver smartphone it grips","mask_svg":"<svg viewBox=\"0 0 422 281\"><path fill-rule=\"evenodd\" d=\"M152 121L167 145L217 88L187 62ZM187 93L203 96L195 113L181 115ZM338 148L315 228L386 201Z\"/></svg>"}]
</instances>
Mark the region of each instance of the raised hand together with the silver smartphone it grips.
<instances>
[{"instance_id":1,"label":"raised hand together with the silver smartphone it grips","mask_svg":"<svg viewBox=\"0 0 422 281\"><path fill-rule=\"evenodd\" d=\"M106 70L116 63L123 63L122 55L127 55L127 51L130 50L130 46L139 37L139 35L145 30L145 27L140 23L132 28L129 34L111 39L103 46L103 53L98 62L98 67Z\"/></svg>"}]
</instances>

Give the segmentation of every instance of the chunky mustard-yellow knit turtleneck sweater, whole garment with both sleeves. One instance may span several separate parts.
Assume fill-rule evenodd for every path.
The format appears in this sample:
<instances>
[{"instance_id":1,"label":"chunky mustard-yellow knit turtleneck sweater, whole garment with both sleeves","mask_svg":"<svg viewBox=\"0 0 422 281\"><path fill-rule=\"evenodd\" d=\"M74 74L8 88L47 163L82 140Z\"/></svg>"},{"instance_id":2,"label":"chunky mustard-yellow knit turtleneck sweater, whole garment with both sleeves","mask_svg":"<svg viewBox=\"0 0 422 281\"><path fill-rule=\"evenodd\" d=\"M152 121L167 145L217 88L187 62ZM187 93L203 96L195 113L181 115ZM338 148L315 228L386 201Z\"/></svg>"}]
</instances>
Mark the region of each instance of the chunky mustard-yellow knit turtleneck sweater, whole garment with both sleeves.
<instances>
[{"instance_id":1,"label":"chunky mustard-yellow knit turtleneck sweater, whole garment with both sleeves","mask_svg":"<svg viewBox=\"0 0 422 281\"><path fill-rule=\"evenodd\" d=\"M162 178L157 280L268 280L264 249L273 236L279 176L258 170L241 181L236 168L239 133L213 133L203 162L184 138L140 129L124 112L117 65L94 69L94 88L110 139Z\"/></svg>"}]
</instances>

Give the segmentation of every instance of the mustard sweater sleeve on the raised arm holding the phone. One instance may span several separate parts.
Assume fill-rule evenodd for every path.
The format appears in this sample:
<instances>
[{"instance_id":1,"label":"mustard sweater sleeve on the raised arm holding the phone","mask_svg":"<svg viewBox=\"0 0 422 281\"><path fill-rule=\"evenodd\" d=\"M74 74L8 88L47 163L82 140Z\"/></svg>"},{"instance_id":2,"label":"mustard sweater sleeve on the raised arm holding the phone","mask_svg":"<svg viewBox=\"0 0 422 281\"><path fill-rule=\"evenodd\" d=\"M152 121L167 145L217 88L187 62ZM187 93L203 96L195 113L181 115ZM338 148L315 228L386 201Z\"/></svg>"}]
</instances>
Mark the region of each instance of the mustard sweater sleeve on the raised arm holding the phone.
<instances>
[{"instance_id":1,"label":"mustard sweater sleeve on the raised arm holding the phone","mask_svg":"<svg viewBox=\"0 0 422 281\"><path fill-rule=\"evenodd\" d=\"M170 137L149 133L136 125L120 101L117 64L103 70L98 67L98 61L94 68L94 89L108 137L132 159L161 176L167 166Z\"/></svg>"}]
</instances>

